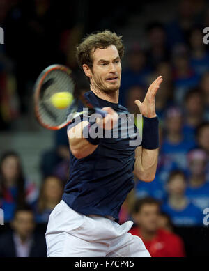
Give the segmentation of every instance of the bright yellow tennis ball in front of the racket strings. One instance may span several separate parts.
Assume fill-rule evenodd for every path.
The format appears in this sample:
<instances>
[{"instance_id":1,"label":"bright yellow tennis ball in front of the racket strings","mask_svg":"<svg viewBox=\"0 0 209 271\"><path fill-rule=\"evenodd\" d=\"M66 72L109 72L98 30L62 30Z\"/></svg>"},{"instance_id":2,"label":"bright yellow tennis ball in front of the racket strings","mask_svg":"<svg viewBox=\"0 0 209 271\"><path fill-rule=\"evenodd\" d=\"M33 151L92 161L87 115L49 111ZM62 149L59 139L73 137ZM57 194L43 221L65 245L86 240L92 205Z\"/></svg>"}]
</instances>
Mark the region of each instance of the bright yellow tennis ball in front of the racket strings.
<instances>
[{"instance_id":1,"label":"bright yellow tennis ball in front of the racket strings","mask_svg":"<svg viewBox=\"0 0 209 271\"><path fill-rule=\"evenodd\" d=\"M54 93L50 98L52 104L57 109L65 109L70 106L73 100L73 95L69 92Z\"/></svg>"}]
</instances>

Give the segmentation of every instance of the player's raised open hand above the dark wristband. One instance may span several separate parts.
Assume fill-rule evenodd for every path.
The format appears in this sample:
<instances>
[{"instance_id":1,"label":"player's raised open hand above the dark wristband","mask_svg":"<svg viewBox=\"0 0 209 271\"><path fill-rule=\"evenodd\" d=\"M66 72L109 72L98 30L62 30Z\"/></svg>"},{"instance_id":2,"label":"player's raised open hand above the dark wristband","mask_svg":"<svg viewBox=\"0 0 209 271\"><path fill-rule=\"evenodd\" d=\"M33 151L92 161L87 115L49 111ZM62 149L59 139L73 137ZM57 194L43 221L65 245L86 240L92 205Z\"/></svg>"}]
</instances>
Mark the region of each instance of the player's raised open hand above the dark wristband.
<instances>
[{"instance_id":1,"label":"player's raised open hand above the dark wristband","mask_svg":"<svg viewBox=\"0 0 209 271\"><path fill-rule=\"evenodd\" d=\"M139 107L140 113L147 118L154 118L157 116L155 112L155 95L157 89L160 88L161 82L162 76L159 76L152 84L150 84L144 102L140 102L139 100L134 101L134 103L137 104L137 107Z\"/></svg>"}]
</instances>

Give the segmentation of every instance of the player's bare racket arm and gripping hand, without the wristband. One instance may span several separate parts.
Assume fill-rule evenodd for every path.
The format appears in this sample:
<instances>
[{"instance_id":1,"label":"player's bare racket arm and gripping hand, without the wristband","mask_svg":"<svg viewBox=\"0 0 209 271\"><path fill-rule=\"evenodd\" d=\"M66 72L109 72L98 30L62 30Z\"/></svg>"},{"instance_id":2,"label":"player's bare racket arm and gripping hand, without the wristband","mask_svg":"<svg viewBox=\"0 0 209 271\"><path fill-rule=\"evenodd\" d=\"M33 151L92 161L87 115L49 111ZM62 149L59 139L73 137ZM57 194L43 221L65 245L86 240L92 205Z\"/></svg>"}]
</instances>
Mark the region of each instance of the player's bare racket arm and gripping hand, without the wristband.
<instances>
[{"instance_id":1,"label":"player's bare racket arm and gripping hand, without the wristband","mask_svg":"<svg viewBox=\"0 0 209 271\"><path fill-rule=\"evenodd\" d=\"M118 121L118 114L111 107L104 107L102 110L107 111L105 118L98 118L96 123L98 127L103 129L112 129L116 122ZM77 159L84 158L91 155L98 148L98 145L91 144L88 139L84 137L83 130L84 127L89 125L88 121L79 122L74 127L68 129L68 139L72 155Z\"/></svg>"}]
</instances>

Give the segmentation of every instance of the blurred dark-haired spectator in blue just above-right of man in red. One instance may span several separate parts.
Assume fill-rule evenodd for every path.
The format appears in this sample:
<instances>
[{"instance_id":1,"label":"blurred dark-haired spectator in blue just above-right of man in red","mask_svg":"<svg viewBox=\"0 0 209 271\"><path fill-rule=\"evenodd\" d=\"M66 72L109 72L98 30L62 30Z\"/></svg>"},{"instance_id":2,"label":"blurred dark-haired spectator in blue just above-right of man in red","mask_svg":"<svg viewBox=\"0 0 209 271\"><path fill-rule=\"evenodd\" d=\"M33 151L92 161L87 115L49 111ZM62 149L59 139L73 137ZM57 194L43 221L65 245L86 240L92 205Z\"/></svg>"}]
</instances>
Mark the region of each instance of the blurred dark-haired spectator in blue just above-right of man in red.
<instances>
[{"instance_id":1,"label":"blurred dark-haired spectator in blue just above-right of man in red","mask_svg":"<svg viewBox=\"0 0 209 271\"><path fill-rule=\"evenodd\" d=\"M167 201L163 203L162 210L171 217L175 226L201 226L201 210L185 195L186 187L183 171L171 171L167 183Z\"/></svg>"}]
</instances>

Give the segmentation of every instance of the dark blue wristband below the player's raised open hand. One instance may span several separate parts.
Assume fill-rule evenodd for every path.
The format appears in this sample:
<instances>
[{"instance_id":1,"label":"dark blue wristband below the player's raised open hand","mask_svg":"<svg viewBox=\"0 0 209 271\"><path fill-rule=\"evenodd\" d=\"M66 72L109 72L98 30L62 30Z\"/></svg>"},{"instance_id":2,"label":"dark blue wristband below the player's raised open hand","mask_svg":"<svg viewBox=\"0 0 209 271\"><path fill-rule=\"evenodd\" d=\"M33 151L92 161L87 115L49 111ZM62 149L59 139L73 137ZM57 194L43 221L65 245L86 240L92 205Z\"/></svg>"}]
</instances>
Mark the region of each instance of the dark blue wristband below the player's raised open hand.
<instances>
[{"instance_id":1,"label":"dark blue wristband below the player's raised open hand","mask_svg":"<svg viewBox=\"0 0 209 271\"><path fill-rule=\"evenodd\" d=\"M146 118L143 116L143 130L141 146L148 150L159 147L158 118Z\"/></svg>"}]
</instances>

